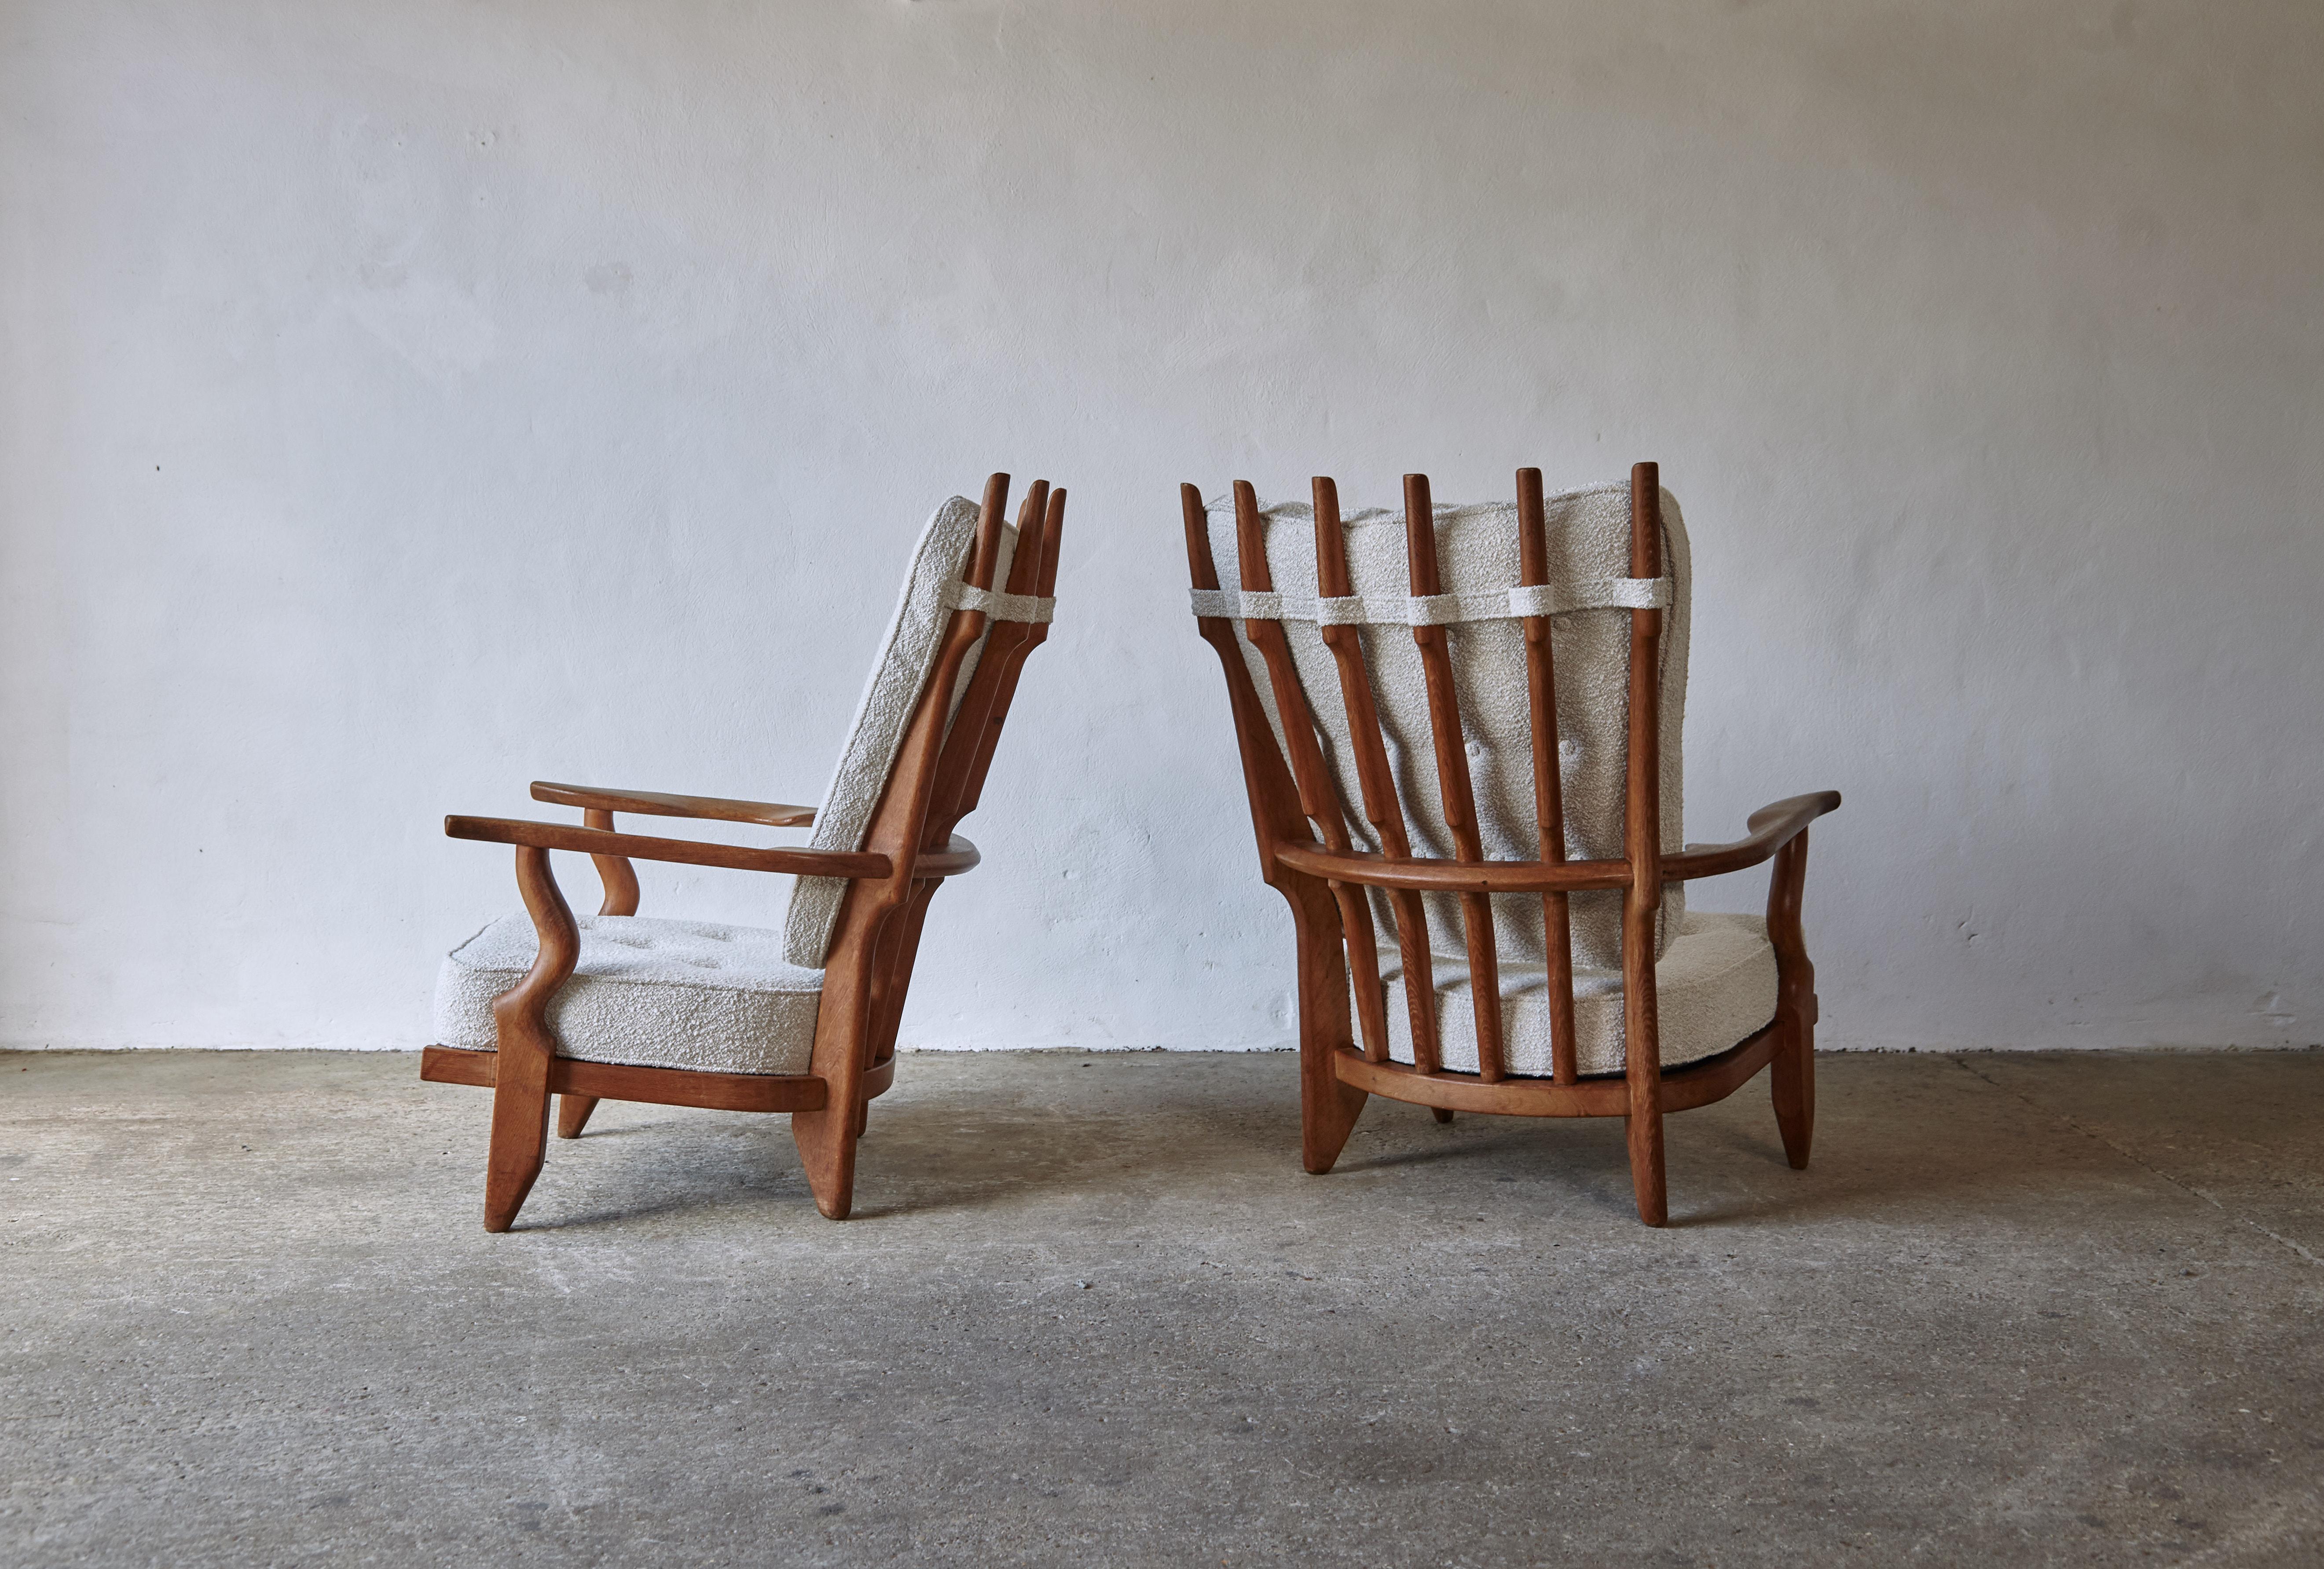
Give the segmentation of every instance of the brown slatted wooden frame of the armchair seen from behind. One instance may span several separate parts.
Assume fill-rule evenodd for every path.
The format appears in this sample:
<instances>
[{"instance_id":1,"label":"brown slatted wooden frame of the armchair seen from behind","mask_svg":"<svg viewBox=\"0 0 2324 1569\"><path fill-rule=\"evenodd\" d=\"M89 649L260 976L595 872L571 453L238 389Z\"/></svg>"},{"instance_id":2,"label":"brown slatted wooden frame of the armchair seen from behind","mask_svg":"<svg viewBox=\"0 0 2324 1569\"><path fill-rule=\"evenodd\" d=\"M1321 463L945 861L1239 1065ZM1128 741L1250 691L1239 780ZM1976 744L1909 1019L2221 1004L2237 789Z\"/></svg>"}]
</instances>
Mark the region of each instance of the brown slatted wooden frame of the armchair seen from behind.
<instances>
[{"instance_id":1,"label":"brown slatted wooden frame of the armchair seen from behind","mask_svg":"<svg viewBox=\"0 0 2324 1569\"><path fill-rule=\"evenodd\" d=\"M1634 579L1662 576L1662 479L1652 463L1631 467ZM1185 549L1195 588L1215 590L1208 514L1195 486L1181 486ZM1234 486L1236 544L1243 590L1274 588L1267 567L1264 523L1257 495ZM1427 474L1404 477L1406 546L1411 593L1439 593L1436 521ZM1520 583L1548 583L1548 535L1541 470L1518 470ZM1315 479L1318 593L1346 595L1348 563L1339 516L1339 488ZM1815 1134L1815 965L1801 934L1799 911L1808 876L1808 823L1841 804L1838 793L1794 795L1750 816L1748 834L1734 844L1662 851L1662 618L1659 609L1629 611L1629 758L1624 774L1622 858L1566 860L1564 811L1557 769L1557 686L1550 616L1525 616L1525 660L1534 730L1534 804L1541 823L1538 860L1485 860L1476 830L1476 802L1462 744L1459 700L1446 628L1413 628L1427 679L1429 730L1455 858L1415 858L1397 800L1394 774L1371 695L1371 672L1357 628L1322 628L1339 669L1339 686L1355 741L1357 786L1364 816L1383 853L1353 848L1339 793L1325 769L1315 714L1308 709L1281 623L1246 621L1243 635L1267 665L1276 714L1283 716L1290 760L1260 704L1250 667L1225 616L1202 616L1199 630L1227 674L1234 735L1243 755L1250 825L1260 846L1260 876L1292 909L1299 953L1299 1134L1308 1172L1325 1174L1339 1160L1367 1095L1432 1106L1439 1120L1455 1111L1501 1116L1620 1116L1629 1123L1629 1169L1645 1225L1669 1220L1662 1118L1724 1099L1771 1067L1776 1125L1792 1167L1808 1165ZM1662 1072L1655 1013L1655 916L1671 881L1720 876L1773 860L1766 895L1766 932L1776 946L1776 1018L1703 1062ZM1413 1065L1387 1058L1387 1020L1364 888L1387 890L1404 960L1411 1011ZM1590 888L1624 890L1622 904L1622 1076L1583 1079L1576 1072L1573 951L1566 897ZM1432 983L1422 893L1462 900L1476 1000L1478 1072L1446 1072L1436 1062L1436 988ZM1548 927L1550 1053L1548 1079L1513 1079L1501 1062L1499 953L1490 895L1538 895ZM1362 1048L1348 1016L1348 967L1355 972Z\"/></svg>"}]
</instances>

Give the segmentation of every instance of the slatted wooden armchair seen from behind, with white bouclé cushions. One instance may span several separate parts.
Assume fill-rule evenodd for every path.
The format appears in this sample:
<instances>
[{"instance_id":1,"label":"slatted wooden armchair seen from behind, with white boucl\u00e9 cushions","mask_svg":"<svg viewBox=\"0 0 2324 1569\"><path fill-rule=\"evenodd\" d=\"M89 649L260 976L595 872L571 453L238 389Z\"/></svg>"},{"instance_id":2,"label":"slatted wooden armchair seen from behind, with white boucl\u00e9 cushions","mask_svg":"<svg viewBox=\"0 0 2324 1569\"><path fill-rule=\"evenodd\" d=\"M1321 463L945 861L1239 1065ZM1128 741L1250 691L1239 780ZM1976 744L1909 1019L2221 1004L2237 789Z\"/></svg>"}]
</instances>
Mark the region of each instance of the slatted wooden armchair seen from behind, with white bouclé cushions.
<instances>
[{"instance_id":1,"label":"slatted wooden armchair seen from behind, with white boucl\u00e9 cushions","mask_svg":"<svg viewBox=\"0 0 2324 1569\"><path fill-rule=\"evenodd\" d=\"M1248 483L1181 502L1260 869L1297 927L1306 1169L1332 1169L1367 1095L1439 1120L1622 1116L1638 1218L1664 1225L1662 1113L1769 1065L1806 1167L1799 897L1808 821L1841 797L1680 848L1690 569L1655 465L1548 500L1520 470L1515 507L1432 507L1406 474L1401 523L1343 518L1329 479L1313 509L1262 511ZM1769 858L1766 920L1687 911L1687 879Z\"/></svg>"}]
</instances>

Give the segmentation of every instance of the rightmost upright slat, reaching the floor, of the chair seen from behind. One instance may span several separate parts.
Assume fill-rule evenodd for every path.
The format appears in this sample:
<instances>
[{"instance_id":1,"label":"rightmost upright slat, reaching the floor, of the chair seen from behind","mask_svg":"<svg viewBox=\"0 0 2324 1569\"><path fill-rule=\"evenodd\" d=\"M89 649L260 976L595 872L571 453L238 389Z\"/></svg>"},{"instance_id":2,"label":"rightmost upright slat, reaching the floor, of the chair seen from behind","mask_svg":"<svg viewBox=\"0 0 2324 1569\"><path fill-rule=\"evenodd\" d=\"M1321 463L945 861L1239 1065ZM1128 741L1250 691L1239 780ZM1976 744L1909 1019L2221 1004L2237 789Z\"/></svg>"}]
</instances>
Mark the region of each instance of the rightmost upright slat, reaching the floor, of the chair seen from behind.
<instances>
[{"instance_id":1,"label":"rightmost upright slat, reaching the floor, of the chair seen from behind","mask_svg":"<svg viewBox=\"0 0 2324 1569\"><path fill-rule=\"evenodd\" d=\"M1662 576L1662 470L1629 470L1629 574ZM1629 1176L1638 1218L1669 1220L1662 1169L1662 1032L1655 1011L1655 916L1662 911L1662 611L1629 614L1629 781L1622 855L1622 1055L1629 1081Z\"/></svg>"}]
</instances>

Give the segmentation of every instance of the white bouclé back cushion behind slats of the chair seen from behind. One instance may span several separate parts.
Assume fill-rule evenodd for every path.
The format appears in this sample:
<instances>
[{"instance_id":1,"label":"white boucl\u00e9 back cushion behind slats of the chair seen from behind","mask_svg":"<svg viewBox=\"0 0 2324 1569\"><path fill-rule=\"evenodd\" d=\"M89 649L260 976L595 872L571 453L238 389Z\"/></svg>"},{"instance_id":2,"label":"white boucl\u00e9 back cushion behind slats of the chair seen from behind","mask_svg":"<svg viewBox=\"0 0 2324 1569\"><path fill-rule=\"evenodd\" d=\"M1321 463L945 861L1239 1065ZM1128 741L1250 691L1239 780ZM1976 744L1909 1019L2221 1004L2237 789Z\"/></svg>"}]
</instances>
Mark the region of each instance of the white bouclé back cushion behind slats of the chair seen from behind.
<instances>
[{"instance_id":1,"label":"white boucl\u00e9 back cushion behind slats of the chair seen from behind","mask_svg":"<svg viewBox=\"0 0 2324 1569\"><path fill-rule=\"evenodd\" d=\"M1564 781L1566 855L1613 860L1622 855L1624 769L1629 762L1629 611L1620 607L1629 579L1629 486L1613 483L1552 495L1545 516L1550 600L1562 607L1585 607L1559 609L1550 623L1550 646L1557 660L1557 755ZM1362 614L1369 618L1380 602L1394 607L1411 595L1404 514L1373 507L1341 514L1341 523L1348 539L1348 583L1355 597L1367 602ZM1208 504L1208 528L1220 588L1232 593L1241 560L1232 500ZM1662 639L1662 848L1673 853L1683 848L1685 839L1680 825L1685 772L1680 730L1687 709L1690 563L1687 530L1669 490L1662 493L1662 560L1671 579ZM1308 709L1322 730L1325 760L1339 793L1341 816L1348 823L1348 837L1360 848L1378 851L1378 834L1364 818L1339 667L1315 621L1294 614L1318 595L1315 511L1301 502L1269 507L1264 509L1264 532L1267 567L1285 611L1283 632ZM1525 623L1506 614L1506 595L1520 581L1518 507L1513 502L1436 507L1436 560L1443 595L1462 600L1448 614L1490 616L1448 623L1478 834L1492 860L1534 860L1541 853L1541 841L1534 816ZM1313 611L1308 609L1308 614ZM1243 621L1234 618L1232 625L1236 646L1250 667L1250 681L1267 709L1267 721L1276 730L1276 744L1283 746L1283 716L1276 714L1267 660L1250 644ZM1364 623L1362 639L1413 855L1452 858L1452 834L1446 828L1443 795L1436 783L1427 681L1411 625L1404 621ZM1383 939L1392 941L1394 918L1387 900L1378 890L1371 897L1378 930ZM1501 962L1543 965L1541 900L1494 895L1492 911ZM1578 893L1571 897L1571 911L1573 965L1578 969L1620 969L1622 895L1618 890ZM1459 900L1427 895L1427 914L1429 951L1466 962ZM1685 883L1669 883L1662 895L1657 955L1671 946L1683 914Z\"/></svg>"}]
</instances>

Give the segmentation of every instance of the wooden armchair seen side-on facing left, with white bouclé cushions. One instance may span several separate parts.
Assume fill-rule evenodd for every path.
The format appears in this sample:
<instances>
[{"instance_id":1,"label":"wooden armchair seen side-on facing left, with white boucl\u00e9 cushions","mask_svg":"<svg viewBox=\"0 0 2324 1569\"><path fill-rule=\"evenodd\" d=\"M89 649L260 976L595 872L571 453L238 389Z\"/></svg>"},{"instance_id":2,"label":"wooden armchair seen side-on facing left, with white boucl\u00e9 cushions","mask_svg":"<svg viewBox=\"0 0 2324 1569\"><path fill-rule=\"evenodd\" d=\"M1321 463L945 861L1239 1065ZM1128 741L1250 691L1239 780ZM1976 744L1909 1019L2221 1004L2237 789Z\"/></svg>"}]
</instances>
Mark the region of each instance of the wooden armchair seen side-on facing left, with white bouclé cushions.
<instances>
[{"instance_id":1,"label":"wooden armchair seen side-on facing left, with white boucl\u00e9 cushions","mask_svg":"<svg viewBox=\"0 0 2324 1569\"><path fill-rule=\"evenodd\" d=\"M920 535L823 807L535 783L583 828L446 818L453 839L516 846L525 914L460 944L437 981L421 1079L493 1090L483 1227L504 1232L539 1176L548 1097L579 1139L600 1099L788 1111L816 1209L844 1220L869 1102L895 1076L895 1030L944 883L976 865L953 828L976 809L1025 655L1048 635L1064 490L1034 483L1009 528L1009 477L953 497ZM992 593L992 581L1006 583ZM614 832L616 811L765 828L806 848ZM548 851L597 862L604 904L576 918ZM632 860L790 872L781 932L637 916Z\"/></svg>"}]
</instances>

